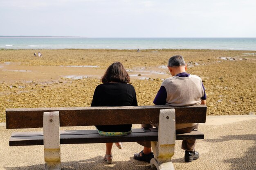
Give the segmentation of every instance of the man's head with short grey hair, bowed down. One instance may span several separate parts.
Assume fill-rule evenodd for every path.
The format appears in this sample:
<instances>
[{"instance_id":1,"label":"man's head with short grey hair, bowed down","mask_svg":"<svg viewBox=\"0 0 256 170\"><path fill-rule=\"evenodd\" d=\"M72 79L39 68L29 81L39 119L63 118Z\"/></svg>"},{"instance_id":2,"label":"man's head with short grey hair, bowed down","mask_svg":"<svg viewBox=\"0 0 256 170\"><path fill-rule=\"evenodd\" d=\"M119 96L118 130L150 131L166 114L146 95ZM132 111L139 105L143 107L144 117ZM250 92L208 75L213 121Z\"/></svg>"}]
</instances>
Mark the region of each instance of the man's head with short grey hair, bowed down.
<instances>
[{"instance_id":1,"label":"man's head with short grey hair, bowed down","mask_svg":"<svg viewBox=\"0 0 256 170\"><path fill-rule=\"evenodd\" d=\"M168 60L168 69L172 76L186 72L187 64L181 55L175 55Z\"/></svg>"}]
</instances>

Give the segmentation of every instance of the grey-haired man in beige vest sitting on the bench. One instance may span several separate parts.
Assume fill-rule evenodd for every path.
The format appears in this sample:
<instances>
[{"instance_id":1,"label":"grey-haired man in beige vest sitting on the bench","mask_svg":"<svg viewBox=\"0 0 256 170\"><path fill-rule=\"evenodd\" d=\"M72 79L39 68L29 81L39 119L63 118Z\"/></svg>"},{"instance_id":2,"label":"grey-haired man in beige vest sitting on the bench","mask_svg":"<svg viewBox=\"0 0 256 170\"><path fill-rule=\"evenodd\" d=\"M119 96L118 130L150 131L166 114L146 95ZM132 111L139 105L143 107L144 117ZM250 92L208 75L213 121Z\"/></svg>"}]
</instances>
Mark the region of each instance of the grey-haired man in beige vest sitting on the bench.
<instances>
[{"instance_id":1,"label":"grey-haired man in beige vest sitting on the bench","mask_svg":"<svg viewBox=\"0 0 256 170\"><path fill-rule=\"evenodd\" d=\"M196 75L186 73L187 64L181 55L175 55L168 61L168 70L172 77L166 78L153 101L155 105L169 106L191 106L205 105L206 94L202 79ZM142 127L157 127L158 124L142 124ZM188 133L198 129L198 124L176 124L176 134ZM154 158L150 142L137 142L144 146L144 149L133 157L139 161L150 162ZM184 159L191 162L199 158L199 153L195 151L195 140L183 140L182 149L185 150Z\"/></svg>"}]
</instances>

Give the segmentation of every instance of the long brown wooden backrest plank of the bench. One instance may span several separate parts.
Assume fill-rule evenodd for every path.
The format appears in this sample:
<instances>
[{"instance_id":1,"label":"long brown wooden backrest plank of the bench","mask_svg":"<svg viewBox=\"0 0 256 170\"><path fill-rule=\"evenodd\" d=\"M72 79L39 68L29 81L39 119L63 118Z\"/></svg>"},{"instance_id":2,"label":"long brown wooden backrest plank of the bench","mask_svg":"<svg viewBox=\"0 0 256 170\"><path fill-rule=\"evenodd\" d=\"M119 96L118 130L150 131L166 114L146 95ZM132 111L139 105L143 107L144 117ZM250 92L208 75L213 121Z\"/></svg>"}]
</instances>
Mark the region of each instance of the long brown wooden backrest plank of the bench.
<instances>
[{"instance_id":1,"label":"long brown wooden backrest plank of the bench","mask_svg":"<svg viewBox=\"0 0 256 170\"><path fill-rule=\"evenodd\" d=\"M114 124L156 124L160 109L175 109L176 123L205 123L206 105L189 107L124 106L124 107L59 107L6 109L6 128L43 127L43 113L59 111L60 126Z\"/></svg>"}]
</instances>

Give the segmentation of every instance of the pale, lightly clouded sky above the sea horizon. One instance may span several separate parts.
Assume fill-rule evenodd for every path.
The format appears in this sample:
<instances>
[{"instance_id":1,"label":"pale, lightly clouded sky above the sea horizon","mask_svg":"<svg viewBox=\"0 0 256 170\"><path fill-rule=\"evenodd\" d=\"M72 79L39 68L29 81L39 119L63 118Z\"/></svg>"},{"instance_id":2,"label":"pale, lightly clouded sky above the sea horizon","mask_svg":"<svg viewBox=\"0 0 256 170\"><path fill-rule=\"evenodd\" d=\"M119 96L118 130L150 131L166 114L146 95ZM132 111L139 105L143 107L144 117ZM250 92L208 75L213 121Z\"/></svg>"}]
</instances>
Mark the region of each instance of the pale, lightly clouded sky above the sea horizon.
<instances>
[{"instance_id":1,"label":"pale, lightly clouded sky above the sea horizon","mask_svg":"<svg viewBox=\"0 0 256 170\"><path fill-rule=\"evenodd\" d=\"M0 0L0 35L256 37L256 0Z\"/></svg>"}]
</instances>

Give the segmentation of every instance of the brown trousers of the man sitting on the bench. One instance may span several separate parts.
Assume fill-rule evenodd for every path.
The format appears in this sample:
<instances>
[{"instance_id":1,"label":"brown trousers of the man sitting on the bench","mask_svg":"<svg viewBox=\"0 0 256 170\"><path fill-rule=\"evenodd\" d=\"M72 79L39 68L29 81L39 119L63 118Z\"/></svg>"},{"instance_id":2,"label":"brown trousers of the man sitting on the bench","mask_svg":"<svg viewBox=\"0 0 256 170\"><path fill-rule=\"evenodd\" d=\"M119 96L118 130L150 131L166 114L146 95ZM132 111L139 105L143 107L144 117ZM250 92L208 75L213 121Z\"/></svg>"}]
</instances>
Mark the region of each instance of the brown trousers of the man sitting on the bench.
<instances>
[{"instance_id":1,"label":"brown trousers of the man sitting on the bench","mask_svg":"<svg viewBox=\"0 0 256 170\"><path fill-rule=\"evenodd\" d=\"M150 127L150 128L152 128L153 126L158 128L158 124L141 124L141 127ZM198 129L198 124L196 124L195 126L186 127L186 128L183 128L183 129L177 129L176 134L189 133L189 132L193 131L194 129ZM196 141L195 139L194 140L182 140L181 148L184 149L184 150L193 151L193 150L195 150L195 141ZM151 142L150 141L137 142L137 143L142 145L142 146L145 146L147 148L151 148Z\"/></svg>"}]
</instances>

